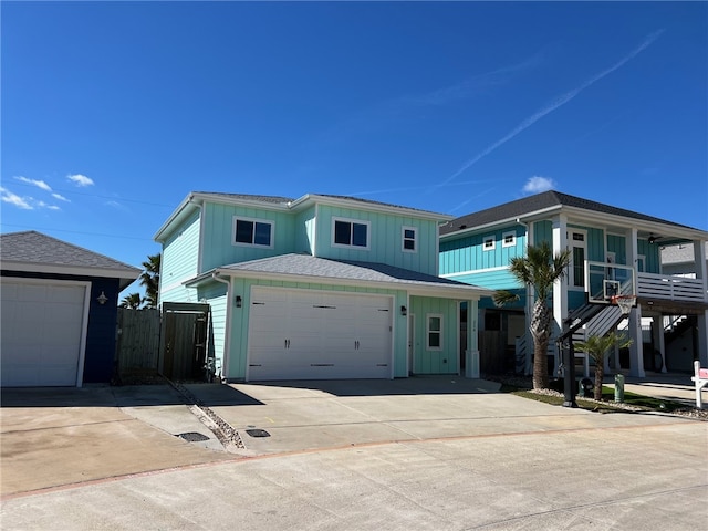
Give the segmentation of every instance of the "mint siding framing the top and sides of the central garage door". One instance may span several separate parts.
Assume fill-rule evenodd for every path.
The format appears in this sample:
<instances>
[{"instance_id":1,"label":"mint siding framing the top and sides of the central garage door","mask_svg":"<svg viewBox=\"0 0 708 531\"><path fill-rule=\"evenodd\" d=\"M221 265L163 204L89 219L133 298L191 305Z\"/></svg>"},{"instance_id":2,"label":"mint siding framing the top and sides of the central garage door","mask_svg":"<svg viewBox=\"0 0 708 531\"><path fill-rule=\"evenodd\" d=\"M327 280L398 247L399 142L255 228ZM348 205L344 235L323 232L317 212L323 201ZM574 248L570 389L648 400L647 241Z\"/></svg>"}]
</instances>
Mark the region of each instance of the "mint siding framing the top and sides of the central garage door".
<instances>
[{"instance_id":1,"label":"mint siding framing the top and sides of the central garage door","mask_svg":"<svg viewBox=\"0 0 708 531\"><path fill-rule=\"evenodd\" d=\"M285 288L295 290L325 290L348 293L371 293L378 295L393 296L393 360L394 360L394 377L407 376L407 325L406 316L400 314L400 306L407 304L407 293L396 290L372 290L357 287L337 287L324 285L309 282L278 282L254 279L232 279L231 293L232 298L240 295L242 299L241 308L231 308L230 326L228 340L228 354L225 361L225 376L229 381L243 381L246 378L246 369L248 363L248 331L249 331L249 309L251 308L251 288L254 285L269 288ZM233 301L228 301L233 304Z\"/></svg>"}]
</instances>

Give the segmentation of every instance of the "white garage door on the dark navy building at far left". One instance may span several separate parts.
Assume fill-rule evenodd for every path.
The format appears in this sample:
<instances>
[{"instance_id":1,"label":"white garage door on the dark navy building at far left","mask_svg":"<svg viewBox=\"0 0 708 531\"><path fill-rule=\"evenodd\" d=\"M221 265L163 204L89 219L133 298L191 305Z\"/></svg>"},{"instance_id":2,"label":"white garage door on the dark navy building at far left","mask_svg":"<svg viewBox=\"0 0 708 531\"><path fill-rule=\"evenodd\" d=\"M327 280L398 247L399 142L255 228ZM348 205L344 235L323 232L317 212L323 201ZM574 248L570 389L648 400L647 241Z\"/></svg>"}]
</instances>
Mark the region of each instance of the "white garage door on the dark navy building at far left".
<instances>
[{"instance_id":1,"label":"white garage door on the dark navy building at far left","mask_svg":"<svg viewBox=\"0 0 708 531\"><path fill-rule=\"evenodd\" d=\"M2 386L77 384L86 289L86 283L2 279Z\"/></svg>"}]
</instances>

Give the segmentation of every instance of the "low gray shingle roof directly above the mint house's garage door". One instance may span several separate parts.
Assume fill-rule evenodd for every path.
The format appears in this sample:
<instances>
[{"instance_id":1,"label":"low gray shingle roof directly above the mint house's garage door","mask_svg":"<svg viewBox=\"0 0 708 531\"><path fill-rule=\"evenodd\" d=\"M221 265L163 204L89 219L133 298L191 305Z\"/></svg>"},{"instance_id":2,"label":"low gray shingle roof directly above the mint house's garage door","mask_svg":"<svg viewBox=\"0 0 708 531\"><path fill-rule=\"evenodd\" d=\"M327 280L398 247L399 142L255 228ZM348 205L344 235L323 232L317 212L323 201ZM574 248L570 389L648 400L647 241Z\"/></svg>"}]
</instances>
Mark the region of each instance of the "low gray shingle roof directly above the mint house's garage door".
<instances>
[{"instance_id":1,"label":"low gray shingle roof directly above the mint house's garage door","mask_svg":"<svg viewBox=\"0 0 708 531\"><path fill-rule=\"evenodd\" d=\"M350 260L330 260L311 254L282 254L279 257L251 260L218 268L223 272L248 271L264 274L289 274L315 277L329 281L382 282L388 284L406 284L406 288L460 288L466 290L487 291L483 288L442 279L431 274L419 273L408 269L396 268L385 263Z\"/></svg>"}]
</instances>

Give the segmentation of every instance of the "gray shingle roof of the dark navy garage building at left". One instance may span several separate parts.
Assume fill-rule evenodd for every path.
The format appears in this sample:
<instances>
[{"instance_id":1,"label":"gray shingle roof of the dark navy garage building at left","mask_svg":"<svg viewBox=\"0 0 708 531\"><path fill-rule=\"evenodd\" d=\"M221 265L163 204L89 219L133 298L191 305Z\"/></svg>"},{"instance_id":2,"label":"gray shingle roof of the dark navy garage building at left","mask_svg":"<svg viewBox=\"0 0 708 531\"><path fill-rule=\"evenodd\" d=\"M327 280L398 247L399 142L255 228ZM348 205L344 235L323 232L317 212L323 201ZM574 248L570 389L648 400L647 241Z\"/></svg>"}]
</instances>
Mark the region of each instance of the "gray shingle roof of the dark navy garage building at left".
<instances>
[{"instance_id":1,"label":"gray shingle roof of the dark navy garage building at left","mask_svg":"<svg viewBox=\"0 0 708 531\"><path fill-rule=\"evenodd\" d=\"M34 230L0 235L0 261L2 269L6 269L7 262L21 262L33 266L110 270L111 278L115 278L113 273L116 271L123 271L125 274L122 277L133 279L140 273L140 270L133 266Z\"/></svg>"}]
</instances>

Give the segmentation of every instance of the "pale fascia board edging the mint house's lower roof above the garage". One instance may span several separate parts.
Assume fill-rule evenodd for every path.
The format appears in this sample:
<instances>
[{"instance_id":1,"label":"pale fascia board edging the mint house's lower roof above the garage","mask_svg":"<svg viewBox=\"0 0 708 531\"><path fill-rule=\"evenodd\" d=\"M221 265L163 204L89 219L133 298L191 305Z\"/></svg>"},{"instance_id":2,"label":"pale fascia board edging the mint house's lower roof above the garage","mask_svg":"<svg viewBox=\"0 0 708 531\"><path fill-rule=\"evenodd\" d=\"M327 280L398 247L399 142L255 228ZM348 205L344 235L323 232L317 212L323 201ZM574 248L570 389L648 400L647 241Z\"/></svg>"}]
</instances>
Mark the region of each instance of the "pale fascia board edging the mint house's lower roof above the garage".
<instances>
[{"instance_id":1,"label":"pale fascia board edging the mint house's lower roof above the garage","mask_svg":"<svg viewBox=\"0 0 708 531\"><path fill-rule=\"evenodd\" d=\"M357 279L339 279L333 277L316 277L308 274L284 274L284 273L264 273L262 271L236 271L229 269L217 269L214 272L217 277L232 277L253 280L271 280L279 282L310 282L313 284L326 285L354 285L366 287L373 289L386 289L406 291L409 294L421 296L439 296L444 299L460 299L466 301L479 300L480 296L491 296L492 290L479 288L477 285L433 285L417 284L406 282L377 282L372 280ZM211 275L209 275L211 278ZM197 281L194 279L190 282ZM206 279L205 279L206 280Z\"/></svg>"}]
</instances>

